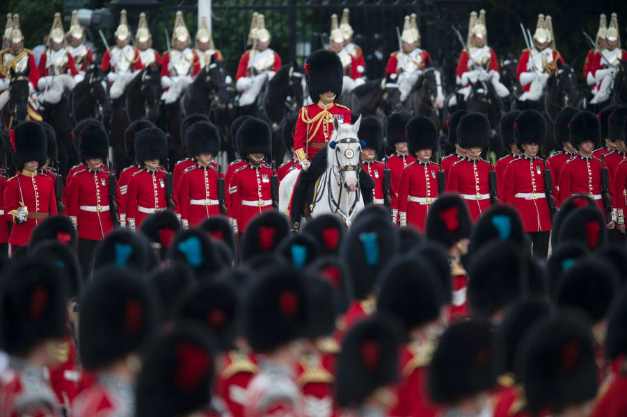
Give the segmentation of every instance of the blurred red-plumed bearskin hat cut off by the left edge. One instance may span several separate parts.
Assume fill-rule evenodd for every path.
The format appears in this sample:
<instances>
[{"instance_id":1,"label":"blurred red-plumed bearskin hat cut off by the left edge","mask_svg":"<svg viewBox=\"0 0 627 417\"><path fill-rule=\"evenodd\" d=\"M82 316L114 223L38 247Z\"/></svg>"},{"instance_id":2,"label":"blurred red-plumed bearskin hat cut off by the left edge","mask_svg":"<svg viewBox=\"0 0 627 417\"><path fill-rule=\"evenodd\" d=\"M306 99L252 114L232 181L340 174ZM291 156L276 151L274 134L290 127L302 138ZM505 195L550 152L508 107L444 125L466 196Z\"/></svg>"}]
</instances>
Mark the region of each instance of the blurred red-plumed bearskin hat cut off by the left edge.
<instances>
[{"instance_id":1,"label":"blurred red-plumed bearskin hat cut off by the left edge","mask_svg":"<svg viewBox=\"0 0 627 417\"><path fill-rule=\"evenodd\" d=\"M0 348L23 356L68 332L68 290L60 271L47 261L26 257L3 272L0 287Z\"/></svg>"}]
</instances>

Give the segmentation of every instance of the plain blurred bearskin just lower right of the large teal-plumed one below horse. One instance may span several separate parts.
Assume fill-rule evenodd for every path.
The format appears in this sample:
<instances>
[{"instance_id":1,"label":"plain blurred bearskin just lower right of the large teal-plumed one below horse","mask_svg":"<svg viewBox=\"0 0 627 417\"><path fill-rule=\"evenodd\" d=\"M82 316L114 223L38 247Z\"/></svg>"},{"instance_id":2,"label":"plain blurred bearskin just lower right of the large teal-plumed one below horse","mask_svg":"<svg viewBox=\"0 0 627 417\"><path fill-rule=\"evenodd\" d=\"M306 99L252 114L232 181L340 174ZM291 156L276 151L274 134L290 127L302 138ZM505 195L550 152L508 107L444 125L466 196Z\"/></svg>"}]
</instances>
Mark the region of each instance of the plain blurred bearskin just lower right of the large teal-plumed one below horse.
<instances>
[{"instance_id":1,"label":"plain blurred bearskin just lower right of the large teal-plumed one below horse","mask_svg":"<svg viewBox=\"0 0 627 417\"><path fill-rule=\"evenodd\" d=\"M381 275L376 311L397 318L406 334L438 320L445 303L438 274L422 256L396 259Z\"/></svg>"}]
</instances>

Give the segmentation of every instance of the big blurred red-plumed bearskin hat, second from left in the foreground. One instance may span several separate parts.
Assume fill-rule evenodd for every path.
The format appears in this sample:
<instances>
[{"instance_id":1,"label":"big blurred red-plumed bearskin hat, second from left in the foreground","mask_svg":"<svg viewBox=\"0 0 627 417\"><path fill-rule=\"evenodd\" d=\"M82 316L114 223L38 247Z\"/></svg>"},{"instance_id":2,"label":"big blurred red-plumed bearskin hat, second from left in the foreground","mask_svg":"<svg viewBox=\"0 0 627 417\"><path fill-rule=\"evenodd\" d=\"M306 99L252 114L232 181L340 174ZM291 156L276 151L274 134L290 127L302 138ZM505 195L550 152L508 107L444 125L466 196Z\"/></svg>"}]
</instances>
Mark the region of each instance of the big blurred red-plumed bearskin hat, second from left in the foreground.
<instances>
[{"instance_id":1,"label":"big blurred red-plumed bearskin hat, second from left in the foreground","mask_svg":"<svg viewBox=\"0 0 627 417\"><path fill-rule=\"evenodd\" d=\"M107 266L81 297L79 352L85 369L96 371L140 352L156 325L156 306L136 271Z\"/></svg>"}]
</instances>

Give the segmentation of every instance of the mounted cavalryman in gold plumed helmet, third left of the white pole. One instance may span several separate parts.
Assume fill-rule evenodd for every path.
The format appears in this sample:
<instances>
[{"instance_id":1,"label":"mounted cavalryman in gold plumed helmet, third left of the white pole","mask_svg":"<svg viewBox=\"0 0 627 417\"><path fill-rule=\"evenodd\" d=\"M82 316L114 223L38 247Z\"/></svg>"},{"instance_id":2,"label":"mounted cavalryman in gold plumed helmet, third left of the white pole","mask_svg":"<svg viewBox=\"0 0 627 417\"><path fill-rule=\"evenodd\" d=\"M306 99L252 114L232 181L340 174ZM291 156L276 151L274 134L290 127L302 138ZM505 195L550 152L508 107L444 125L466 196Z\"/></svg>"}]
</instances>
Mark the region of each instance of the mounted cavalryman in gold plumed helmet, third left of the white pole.
<instances>
[{"instance_id":1,"label":"mounted cavalryman in gold plumed helmet, third left of the white pole","mask_svg":"<svg viewBox=\"0 0 627 417\"><path fill-rule=\"evenodd\" d=\"M111 99L118 99L122 96L124 88L133 79L138 71L143 70L139 51L129 44L131 31L126 20L126 10L120 12L120 24L116 29L116 46L104 52L100 70L106 74L106 78L111 81L109 93Z\"/></svg>"}]
</instances>

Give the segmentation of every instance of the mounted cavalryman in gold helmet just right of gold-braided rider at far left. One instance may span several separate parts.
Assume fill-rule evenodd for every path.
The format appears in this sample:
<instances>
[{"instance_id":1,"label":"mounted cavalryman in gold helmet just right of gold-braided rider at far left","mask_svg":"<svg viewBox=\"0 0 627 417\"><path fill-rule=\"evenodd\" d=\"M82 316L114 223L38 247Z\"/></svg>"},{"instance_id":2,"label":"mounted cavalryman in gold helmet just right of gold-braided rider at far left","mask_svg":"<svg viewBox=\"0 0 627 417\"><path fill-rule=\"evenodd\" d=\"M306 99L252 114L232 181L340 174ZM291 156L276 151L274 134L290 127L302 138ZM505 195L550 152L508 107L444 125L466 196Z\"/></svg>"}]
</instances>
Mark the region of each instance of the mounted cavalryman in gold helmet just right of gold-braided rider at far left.
<instances>
[{"instance_id":1,"label":"mounted cavalryman in gold helmet just right of gold-braided rider at far left","mask_svg":"<svg viewBox=\"0 0 627 417\"><path fill-rule=\"evenodd\" d=\"M74 83L81 81L74 58L65 49L65 32L61 24L61 13L54 14L50 29L48 48L39 60L39 81L37 87L42 92L40 102L57 104L63 92L74 88Z\"/></svg>"}]
</instances>

